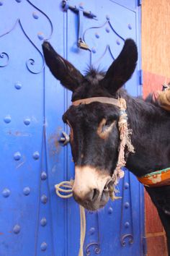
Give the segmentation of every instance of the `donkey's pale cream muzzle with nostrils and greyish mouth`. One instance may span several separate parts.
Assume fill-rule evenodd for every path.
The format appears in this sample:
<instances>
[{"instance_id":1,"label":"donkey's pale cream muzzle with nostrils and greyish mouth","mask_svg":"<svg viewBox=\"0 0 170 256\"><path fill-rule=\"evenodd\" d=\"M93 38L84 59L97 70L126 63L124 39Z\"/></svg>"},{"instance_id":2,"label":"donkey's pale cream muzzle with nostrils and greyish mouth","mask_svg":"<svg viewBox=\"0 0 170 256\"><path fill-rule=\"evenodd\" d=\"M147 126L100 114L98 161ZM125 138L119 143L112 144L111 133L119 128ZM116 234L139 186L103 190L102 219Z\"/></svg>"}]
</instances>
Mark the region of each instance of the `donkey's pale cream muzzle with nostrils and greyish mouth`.
<instances>
[{"instance_id":1,"label":"donkey's pale cream muzzle with nostrils and greyish mouth","mask_svg":"<svg viewBox=\"0 0 170 256\"><path fill-rule=\"evenodd\" d=\"M73 183L73 197L87 210L98 210L109 200L106 185L111 179L107 171L91 166L76 166Z\"/></svg>"}]
</instances>

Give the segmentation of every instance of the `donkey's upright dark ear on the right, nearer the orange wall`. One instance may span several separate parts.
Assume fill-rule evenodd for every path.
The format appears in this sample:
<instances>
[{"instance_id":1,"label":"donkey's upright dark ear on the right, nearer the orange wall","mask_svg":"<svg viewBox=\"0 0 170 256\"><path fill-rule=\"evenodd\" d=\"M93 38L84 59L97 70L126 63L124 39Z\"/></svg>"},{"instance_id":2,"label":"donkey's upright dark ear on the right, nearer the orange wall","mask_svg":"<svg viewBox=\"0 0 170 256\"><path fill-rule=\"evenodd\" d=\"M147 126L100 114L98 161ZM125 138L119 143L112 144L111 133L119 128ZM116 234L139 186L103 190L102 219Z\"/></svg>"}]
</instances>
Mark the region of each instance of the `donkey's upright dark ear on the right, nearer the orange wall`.
<instances>
[{"instance_id":1,"label":"donkey's upright dark ear on the right, nearer the orange wall","mask_svg":"<svg viewBox=\"0 0 170 256\"><path fill-rule=\"evenodd\" d=\"M132 39L125 40L125 45L120 55L112 62L112 65L101 80L101 85L107 88L109 93L117 92L132 76L137 60L138 49L135 42Z\"/></svg>"}]
</instances>

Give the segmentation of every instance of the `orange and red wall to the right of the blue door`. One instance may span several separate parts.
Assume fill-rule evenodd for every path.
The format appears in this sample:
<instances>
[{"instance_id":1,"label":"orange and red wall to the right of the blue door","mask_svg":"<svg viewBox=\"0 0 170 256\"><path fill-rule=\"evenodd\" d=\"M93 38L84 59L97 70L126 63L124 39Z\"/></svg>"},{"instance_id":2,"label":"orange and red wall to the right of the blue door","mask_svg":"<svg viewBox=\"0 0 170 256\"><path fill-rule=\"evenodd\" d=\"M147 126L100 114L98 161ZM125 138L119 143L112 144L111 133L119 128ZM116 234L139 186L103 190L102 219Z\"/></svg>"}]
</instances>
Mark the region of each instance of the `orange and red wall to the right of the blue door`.
<instances>
[{"instance_id":1,"label":"orange and red wall to the right of the blue door","mask_svg":"<svg viewBox=\"0 0 170 256\"><path fill-rule=\"evenodd\" d=\"M142 58L143 97L161 90L170 81L170 1L143 0ZM154 216L154 218L153 218ZM156 208L146 195L146 237L148 256L167 255L166 236Z\"/></svg>"}]
</instances>

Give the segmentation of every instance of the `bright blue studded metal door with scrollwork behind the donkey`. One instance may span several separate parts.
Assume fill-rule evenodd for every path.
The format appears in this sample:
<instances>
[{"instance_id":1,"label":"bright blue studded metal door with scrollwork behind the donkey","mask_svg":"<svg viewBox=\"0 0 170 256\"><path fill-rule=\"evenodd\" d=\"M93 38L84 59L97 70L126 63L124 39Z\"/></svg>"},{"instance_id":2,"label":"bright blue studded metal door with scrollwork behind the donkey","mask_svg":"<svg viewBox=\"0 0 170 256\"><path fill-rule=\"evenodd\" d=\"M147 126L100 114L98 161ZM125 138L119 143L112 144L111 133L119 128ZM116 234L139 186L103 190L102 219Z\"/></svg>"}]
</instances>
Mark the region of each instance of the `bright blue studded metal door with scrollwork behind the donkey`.
<instances>
[{"instance_id":1,"label":"bright blue studded metal door with scrollwork behind the donkey","mask_svg":"<svg viewBox=\"0 0 170 256\"><path fill-rule=\"evenodd\" d=\"M139 61L125 87L140 95L140 4L0 0L0 17L0 255L76 256L79 205L54 189L74 176L70 146L59 142L69 132L61 116L71 93L45 67L42 41L84 72L107 69L133 38ZM84 255L144 255L143 188L125 173L122 199L86 212Z\"/></svg>"}]
</instances>

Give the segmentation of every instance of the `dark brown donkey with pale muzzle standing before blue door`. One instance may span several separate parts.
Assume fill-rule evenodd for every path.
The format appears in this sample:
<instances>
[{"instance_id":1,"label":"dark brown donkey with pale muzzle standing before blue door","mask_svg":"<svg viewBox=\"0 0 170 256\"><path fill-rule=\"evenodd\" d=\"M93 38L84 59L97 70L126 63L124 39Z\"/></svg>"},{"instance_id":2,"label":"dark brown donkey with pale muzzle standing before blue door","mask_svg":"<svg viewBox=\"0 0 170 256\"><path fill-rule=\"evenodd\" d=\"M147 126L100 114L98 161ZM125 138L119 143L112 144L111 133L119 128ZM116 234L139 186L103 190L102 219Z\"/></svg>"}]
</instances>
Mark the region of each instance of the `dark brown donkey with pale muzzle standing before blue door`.
<instances>
[{"instance_id":1,"label":"dark brown donkey with pale muzzle standing before blue door","mask_svg":"<svg viewBox=\"0 0 170 256\"><path fill-rule=\"evenodd\" d=\"M169 171L167 168L170 167L170 112L161 108L158 101L153 101L151 95L144 101L131 97L122 88L132 76L138 60L135 42L125 40L120 55L106 73L91 68L85 75L58 55L47 41L42 44L42 49L52 74L73 92L73 104L63 114L63 121L71 128L74 199L88 210L104 207L109 200L108 182L117 166L120 108L116 104L96 101L96 98L123 98L126 101L135 153L129 153L125 147L125 166L139 180L147 175L150 180L155 177L160 180L160 170ZM94 101L82 102L89 98ZM149 176L151 173L153 177ZM166 174L168 181L158 184L153 181L153 185L146 184L145 187L166 231L170 255L170 174Z\"/></svg>"}]
</instances>

